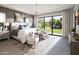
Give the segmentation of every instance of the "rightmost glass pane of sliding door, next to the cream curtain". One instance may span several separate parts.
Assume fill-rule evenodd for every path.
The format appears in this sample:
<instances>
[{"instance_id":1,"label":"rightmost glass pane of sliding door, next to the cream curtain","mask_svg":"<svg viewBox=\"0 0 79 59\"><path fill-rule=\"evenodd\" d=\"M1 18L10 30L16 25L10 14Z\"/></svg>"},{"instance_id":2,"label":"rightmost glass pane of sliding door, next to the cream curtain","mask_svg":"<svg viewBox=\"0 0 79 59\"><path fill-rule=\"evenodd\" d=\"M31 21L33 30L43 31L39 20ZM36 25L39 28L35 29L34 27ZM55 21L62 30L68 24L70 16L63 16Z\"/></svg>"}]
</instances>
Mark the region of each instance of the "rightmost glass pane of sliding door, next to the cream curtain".
<instances>
[{"instance_id":1,"label":"rightmost glass pane of sliding door, next to the cream curtain","mask_svg":"<svg viewBox=\"0 0 79 59\"><path fill-rule=\"evenodd\" d=\"M62 35L62 16L53 17L53 34Z\"/></svg>"}]
</instances>

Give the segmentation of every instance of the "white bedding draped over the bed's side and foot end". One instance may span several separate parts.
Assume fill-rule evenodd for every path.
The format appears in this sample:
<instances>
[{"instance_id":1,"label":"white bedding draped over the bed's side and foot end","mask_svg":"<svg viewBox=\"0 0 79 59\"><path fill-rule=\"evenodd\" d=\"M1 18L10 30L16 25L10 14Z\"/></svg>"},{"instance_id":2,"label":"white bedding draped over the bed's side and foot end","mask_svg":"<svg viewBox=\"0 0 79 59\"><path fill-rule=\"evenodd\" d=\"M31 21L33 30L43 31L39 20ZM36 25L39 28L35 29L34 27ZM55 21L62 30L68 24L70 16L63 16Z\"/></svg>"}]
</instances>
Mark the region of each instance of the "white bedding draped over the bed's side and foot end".
<instances>
[{"instance_id":1,"label":"white bedding draped over the bed's side and foot end","mask_svg":"<svg viewBox=\"0 0 79 59\"><path fill-rule=\"evenodd\" d=\"M22 30L19 30L18 32L18 40L21 41L21 43L25 43L27 41L27 35L30 33L36 32L36 28L23 28Z\"/></svg>"}]
</instances>

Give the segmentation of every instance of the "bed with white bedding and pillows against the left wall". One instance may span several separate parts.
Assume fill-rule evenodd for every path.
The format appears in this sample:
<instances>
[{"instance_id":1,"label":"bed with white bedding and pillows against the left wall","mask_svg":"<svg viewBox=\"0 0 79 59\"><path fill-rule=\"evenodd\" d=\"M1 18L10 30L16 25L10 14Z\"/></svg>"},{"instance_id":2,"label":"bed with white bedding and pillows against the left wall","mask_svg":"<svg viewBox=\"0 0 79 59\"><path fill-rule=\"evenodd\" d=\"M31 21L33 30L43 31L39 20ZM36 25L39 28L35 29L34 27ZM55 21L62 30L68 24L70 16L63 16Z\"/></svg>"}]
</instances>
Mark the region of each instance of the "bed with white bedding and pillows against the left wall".
<instances>
[{"instance_id":1,"label":"bed with white bedding and pillows against the left wall","mask_svg":"<svg viewBox=\"0 0 79 59\"><path fill-rule=\"evenodd\" d=\"M12 24L12 37L24 44L27 41L27 36L36 32L36 28L19 26L18 23Z\"/></svg>"}]
</instances>

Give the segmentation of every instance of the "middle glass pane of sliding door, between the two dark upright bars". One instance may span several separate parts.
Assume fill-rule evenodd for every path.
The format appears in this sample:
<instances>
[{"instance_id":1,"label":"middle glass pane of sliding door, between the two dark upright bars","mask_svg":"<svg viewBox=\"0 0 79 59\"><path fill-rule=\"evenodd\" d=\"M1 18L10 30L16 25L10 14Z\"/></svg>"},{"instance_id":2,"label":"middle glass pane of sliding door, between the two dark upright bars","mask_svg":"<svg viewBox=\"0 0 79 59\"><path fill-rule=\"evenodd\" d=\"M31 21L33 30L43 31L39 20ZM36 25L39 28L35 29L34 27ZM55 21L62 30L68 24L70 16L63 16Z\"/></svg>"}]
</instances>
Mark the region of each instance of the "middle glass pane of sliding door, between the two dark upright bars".
<instances>
[{"instance_id":1,"label":"middle glass pane of sliding door, between the two dark upright bars","mask_svg":"<svg viewBox=\"0 0 79 59\"><path fill-rule=\"evenodd\" d=\"M49 34L52 34L51 20L52 20L52 17L45 17L45 31Z\"/></svg>"}]
</instances>

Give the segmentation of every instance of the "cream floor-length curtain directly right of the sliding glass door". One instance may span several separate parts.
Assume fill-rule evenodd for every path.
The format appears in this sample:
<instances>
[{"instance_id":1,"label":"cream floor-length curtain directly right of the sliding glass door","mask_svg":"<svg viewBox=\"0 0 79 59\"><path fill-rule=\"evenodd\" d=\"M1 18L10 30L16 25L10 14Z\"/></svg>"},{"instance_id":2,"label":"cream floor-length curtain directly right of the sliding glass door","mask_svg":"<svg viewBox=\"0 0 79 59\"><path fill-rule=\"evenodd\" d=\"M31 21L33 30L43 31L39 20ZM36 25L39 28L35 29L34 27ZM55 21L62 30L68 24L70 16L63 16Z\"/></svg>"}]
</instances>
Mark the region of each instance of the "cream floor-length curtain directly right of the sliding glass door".
<instances>
[{"instance_id":1,"label":"cream floor-length curtain directly right of the sliding glass door","mask_svg":"<svg viewBox=\"0 0 79 59\"><path fill-rule=\"evenodd\" d=\"M63 36L68 37L69 32L69 10L64 10L62 12L62 31Z\"/></svg>"}]
</instances>

